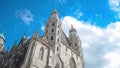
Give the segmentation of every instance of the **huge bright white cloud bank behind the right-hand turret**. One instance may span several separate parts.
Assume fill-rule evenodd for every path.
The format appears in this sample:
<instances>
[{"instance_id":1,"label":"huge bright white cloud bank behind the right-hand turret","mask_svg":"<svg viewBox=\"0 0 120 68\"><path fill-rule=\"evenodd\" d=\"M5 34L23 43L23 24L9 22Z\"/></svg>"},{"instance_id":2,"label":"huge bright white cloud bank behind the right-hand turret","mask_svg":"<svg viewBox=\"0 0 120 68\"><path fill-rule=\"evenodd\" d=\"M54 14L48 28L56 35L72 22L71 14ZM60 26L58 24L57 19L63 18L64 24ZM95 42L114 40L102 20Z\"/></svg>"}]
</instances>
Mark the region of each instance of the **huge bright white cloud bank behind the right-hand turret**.
<instances>
[{"instance_id":1,"label":"huge bright white cloud bank behind the right-hand turret","mask_svg":"<svg viewBox=\"0 0 120 68\"><path fill-rule=\"evenodd\" d=\"M71 24L77 29L78 35L82 41L86 68L104 68L106 62L109 60L104 58L104 55L107 55L108 52L113 50L120 51L119 21L109 24L106 28L101 28L91 25L90 22L84 22L71 16L65 16L62 19L62 26L67 36L69 35L69 31L66 28L70 29ZM110 59L112 60L113 58ZM119 60L116 61L119 62ZM109 64L114 63L109 62Z\"/></svg>"}]
</instances>

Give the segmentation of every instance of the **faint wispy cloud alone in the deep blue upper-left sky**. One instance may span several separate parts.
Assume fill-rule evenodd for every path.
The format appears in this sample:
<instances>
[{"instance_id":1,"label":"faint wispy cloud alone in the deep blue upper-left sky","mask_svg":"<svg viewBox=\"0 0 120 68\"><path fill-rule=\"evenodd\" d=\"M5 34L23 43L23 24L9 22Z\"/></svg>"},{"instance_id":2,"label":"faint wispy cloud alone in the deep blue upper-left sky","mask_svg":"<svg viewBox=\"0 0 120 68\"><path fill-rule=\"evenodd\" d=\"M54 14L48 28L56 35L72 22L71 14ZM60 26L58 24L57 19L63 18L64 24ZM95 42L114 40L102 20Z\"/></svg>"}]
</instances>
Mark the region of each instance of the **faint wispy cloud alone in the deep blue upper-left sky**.
<instances>
[{"instance_id":1,"label":"faint wispy cloud alone in the deep blue upper-left sky","mask_svg":"<svg viewBox=\"0 0 120 68\"><path fill-rule=\"evenodd\" d=\"M25 24L30 25L31 22L34 21L34 15L30 12L30 10L18 10L16 12L16 16L19 17Z\"/></svg>"}]
</instances>

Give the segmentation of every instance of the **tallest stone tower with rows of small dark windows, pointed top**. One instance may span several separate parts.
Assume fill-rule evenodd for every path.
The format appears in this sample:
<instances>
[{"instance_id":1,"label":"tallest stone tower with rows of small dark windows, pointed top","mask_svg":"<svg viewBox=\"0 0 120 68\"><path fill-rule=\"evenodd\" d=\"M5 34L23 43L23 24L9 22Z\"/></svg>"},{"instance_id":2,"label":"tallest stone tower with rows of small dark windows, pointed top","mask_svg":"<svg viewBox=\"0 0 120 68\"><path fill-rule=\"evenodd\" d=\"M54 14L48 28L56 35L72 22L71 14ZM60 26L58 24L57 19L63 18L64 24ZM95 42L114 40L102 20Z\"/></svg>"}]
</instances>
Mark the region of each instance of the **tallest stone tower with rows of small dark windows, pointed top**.
<instances>
[{"instance_id":1,"label":"tallest stone tower with rows of small dark windows, pointed top","mask_svg":"<svg viewBox=\"0 0 120 68\"><path fill-rule=\"evenodd\" d=\"M61 34L61 21L58 17L58 12L55 9L46 23L44 33L48 40L48 43L54 50L57 50L59 47L59 42L61 41L60 34Z\"/></svg>"}]
</instances>

